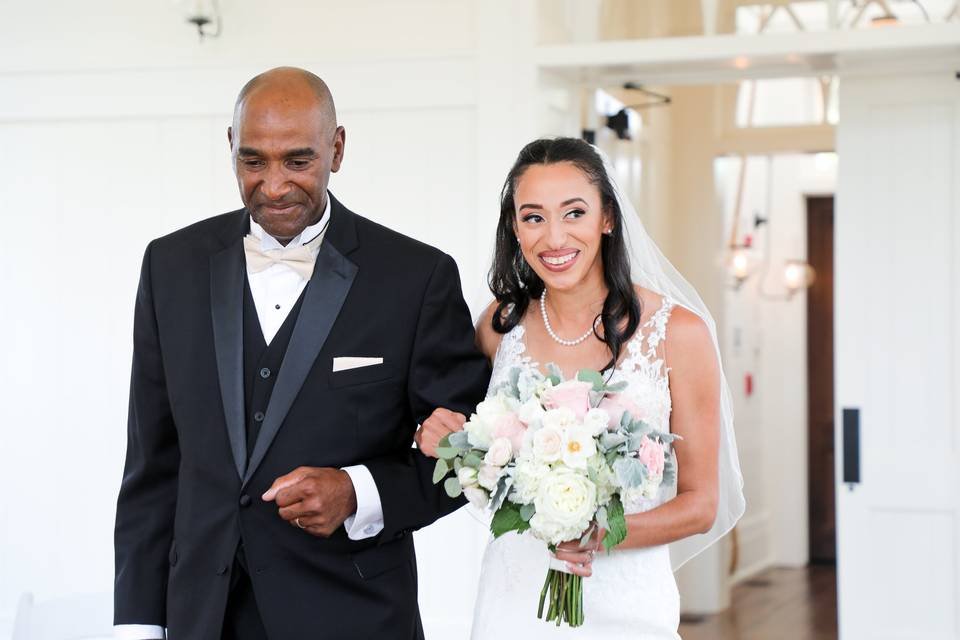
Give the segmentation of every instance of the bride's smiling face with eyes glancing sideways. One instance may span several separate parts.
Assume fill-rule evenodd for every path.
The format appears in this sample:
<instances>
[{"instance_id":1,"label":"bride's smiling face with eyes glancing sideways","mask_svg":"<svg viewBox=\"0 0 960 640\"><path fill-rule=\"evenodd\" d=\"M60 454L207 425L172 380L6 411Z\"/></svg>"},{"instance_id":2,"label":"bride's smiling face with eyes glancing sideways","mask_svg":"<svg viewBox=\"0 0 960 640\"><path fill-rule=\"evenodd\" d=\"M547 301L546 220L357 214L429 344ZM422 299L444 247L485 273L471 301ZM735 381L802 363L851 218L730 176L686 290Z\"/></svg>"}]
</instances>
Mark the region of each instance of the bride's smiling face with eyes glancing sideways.
<instances>
[{"instance_id":1,"label":"bride's smiling face with eyes glancing sideways","mask_svg":"<svg viewBox=\"0 0 960 640\"><path fill-rule=\"evenodd\" d=\"M602 273L609 227L600 191L569 162L530 166L514 191L514 225L523 257L551 289L571 289Z\"/></svg>"}]
</instances>

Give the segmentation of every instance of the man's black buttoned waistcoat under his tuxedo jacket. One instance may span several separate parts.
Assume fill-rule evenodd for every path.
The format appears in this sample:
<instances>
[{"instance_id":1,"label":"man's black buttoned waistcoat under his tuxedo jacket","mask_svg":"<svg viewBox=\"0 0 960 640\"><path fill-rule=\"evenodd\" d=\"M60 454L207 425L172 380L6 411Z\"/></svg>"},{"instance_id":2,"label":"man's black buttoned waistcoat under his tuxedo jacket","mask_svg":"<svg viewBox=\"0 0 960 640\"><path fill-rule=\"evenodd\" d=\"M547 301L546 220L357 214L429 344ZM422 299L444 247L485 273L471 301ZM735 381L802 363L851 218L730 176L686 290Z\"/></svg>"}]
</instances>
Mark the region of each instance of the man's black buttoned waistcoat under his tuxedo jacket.
<instances>
[{"instance_id":1,"label":"man's black buttoned waistcoat under his tuxedo jacket","mask_svg":"<svg viewBox=\"0 0 960 640\"><path fill-rule=\"evenodd\" d=\"M306 289L304 289L305 291ZM250 283L244 278L243 285L243 391L246 406L247 426L247 461L257 442L263 418L270 404L270 395L273 385L280 372L280 364L287 352L293 327L300 315L303 304L303 293L296 304L287 314L286 320L277 331L277 335L267 346L263 339L263 330L260 328L260 319L257 316L257 307L250 292Z\"/></svg>"}]
</instances>

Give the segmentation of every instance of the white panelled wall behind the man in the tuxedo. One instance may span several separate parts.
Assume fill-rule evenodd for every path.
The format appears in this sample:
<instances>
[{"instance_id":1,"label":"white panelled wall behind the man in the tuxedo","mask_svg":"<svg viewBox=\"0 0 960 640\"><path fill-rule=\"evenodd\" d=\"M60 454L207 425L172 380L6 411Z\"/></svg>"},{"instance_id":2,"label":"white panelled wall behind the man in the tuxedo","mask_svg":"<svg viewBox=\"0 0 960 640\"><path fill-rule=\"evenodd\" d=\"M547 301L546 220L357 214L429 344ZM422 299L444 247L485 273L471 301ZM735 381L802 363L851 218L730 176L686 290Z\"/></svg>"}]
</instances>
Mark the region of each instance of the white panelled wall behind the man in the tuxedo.
<instances>
[{"instance_id":1,"label":"white panelled wall behind the man in the tuxedo","mask_svg":"<svg viewBox=\"0 0 960 640\"><path fill-rule=\"evenodd\" d=\"M223 36L202 44L171 2L3 6L0 637L23 591L111 588L140 258L240 205L225 129L250 76L324 77L348 132L331 189L451 253L467 299L486 297L500 183L535 132L532 3L222 4ZM465 514L418 535L428 631L465 637L484 541Z\"/></svg>"}]
</instances>

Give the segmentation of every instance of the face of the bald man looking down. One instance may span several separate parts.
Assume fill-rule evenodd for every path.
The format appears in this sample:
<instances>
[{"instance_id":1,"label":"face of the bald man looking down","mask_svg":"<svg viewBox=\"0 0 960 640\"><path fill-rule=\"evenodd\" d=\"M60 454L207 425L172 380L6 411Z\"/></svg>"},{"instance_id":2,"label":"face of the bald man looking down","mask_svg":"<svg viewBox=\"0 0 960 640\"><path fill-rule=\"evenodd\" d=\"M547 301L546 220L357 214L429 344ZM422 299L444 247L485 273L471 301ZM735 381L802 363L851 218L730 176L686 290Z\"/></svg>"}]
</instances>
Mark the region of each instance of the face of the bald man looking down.
<instances>
[{"instance_id":1,"label":"face of the bald man looking down","mask_svg":"<svg viewBox=\"0 0 960 640\"><path fill-rule=\"evenodd\" d=\"M240 197L264 231L286 244L316 223L345 134L316 98L255 92L227 131Z\"/></svg>"}]
</instances>

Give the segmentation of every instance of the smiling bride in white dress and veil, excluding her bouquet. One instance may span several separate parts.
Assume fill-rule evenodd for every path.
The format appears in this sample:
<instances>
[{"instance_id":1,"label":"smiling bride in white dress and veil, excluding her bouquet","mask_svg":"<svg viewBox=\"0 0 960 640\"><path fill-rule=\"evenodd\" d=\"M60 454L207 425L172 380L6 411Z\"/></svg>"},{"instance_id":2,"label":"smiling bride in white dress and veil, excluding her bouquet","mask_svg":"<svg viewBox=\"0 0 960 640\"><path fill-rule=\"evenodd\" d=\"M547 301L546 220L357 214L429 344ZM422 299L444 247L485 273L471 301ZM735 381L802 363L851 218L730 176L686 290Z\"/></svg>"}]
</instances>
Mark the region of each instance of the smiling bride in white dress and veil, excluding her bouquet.
<instances>
[{"instance_id":1,"label":"smiling bride in white dress and veil, excluding her bouquet","mask_svg":"<svg viewBox=\"0 0 960 640\"><path fill-rule=\"evenodd\" d=\"M585 546L558 547L557 560L590 577L583 627L537 619L549 552L532 536L508 533L484 554L471 637L679 638L673 571L743 513L712 318L620 197L604 160L573 138L528 144L510 170L490 288L496 300L477 340L493 364L491 389L516 366L555 363L568 379L601 370L627 382L624 410L682 440L674 443L675 495L664 489L625 503L626 540L604 553L599 531ZM435 456L465 419L437 409L417 432L418 446Z\"/></svg>"}]
</instances>

